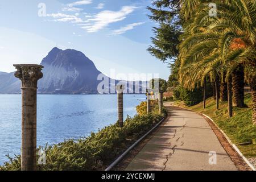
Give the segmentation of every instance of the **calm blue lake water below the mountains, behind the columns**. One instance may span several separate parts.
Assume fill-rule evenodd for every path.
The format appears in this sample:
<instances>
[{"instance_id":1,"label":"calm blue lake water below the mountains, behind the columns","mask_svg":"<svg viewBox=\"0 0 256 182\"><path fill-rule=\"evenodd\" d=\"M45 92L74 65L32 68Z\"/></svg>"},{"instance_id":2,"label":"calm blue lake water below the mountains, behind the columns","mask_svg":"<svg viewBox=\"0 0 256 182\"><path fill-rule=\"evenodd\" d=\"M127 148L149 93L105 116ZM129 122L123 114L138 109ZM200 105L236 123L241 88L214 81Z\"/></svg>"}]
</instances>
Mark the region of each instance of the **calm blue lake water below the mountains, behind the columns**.
<instances>
[{"instance_id":1,"label":"calm blue lake water below the mountains, behind the columns","mask_svg":"<svg viewBox=\"0 0 256 182\"><path fill-rule=\"evenodd\" d=\"M136 114L144 95L124 95L124 117ZM117 121L116 95L38 95L37 144L85 137ZM0 165L20 154L21 96L0 94Z\"/></svg>"}]
</instances>

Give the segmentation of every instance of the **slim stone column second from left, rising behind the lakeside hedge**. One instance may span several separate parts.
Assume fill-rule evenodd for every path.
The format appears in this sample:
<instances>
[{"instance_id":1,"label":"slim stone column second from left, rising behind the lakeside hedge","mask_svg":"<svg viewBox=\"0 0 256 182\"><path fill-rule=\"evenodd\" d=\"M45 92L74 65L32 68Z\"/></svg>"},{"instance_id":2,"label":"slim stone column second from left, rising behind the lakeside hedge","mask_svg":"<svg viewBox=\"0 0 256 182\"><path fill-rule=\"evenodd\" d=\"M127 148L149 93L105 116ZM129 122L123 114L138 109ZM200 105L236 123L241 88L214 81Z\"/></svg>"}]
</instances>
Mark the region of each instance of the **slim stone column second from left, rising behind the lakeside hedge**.
<instances>
[{"instance_id":1,"label":"slim stone column second from left, rising behind the lakeside hedge","mask_svg":"<svg viewBox=\"0 0 256 182\"><path fill-rule=\"evenodd\" d=\"M119 127L123 127L123 85L117 85L117 110Z\"/></svg>"}]
</instances>

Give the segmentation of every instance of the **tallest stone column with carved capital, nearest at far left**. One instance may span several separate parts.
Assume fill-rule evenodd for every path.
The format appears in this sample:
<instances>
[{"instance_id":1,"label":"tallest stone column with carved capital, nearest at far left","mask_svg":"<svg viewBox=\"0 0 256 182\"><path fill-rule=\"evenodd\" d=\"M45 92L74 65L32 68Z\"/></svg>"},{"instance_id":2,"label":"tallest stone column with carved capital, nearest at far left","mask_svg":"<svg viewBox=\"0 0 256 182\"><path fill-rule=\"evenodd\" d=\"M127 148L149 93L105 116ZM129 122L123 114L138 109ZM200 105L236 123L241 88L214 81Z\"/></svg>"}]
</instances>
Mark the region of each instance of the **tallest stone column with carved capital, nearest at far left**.
<instances>
[{"instance_id":1,"label":"tallest stone column with carved capital, nearest at far left","mask_svg":"<svg viewBox=\"0 0 256 182\"><path fill-rule=\"evenodd\" d=\"M36 90L43 66L15 64L15 77L22 82L22 171L36 170Z\"/></svg>"}]
</instances>

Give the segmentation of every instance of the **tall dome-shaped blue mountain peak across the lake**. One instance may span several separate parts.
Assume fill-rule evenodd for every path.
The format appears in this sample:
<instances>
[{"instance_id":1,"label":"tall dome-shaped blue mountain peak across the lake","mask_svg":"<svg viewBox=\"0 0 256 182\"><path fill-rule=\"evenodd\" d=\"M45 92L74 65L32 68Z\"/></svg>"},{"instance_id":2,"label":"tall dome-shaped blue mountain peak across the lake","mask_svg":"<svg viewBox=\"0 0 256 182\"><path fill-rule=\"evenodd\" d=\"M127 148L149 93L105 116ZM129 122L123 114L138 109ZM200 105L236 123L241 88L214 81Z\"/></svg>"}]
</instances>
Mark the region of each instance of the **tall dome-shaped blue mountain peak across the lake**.
<instances>
[{"instance_id":1,"label":"tall dome-shaped blue mountain peak across the lake","mask_svg":"<svg viewBox=\"0 0 256 182\"><path fill-rule=\"evenodd\" d=\"M97 77L101 72L84 53L55 47L41 65L44 77L38 82L39 93L97 93Z\"/></svg>"}]
</instances>

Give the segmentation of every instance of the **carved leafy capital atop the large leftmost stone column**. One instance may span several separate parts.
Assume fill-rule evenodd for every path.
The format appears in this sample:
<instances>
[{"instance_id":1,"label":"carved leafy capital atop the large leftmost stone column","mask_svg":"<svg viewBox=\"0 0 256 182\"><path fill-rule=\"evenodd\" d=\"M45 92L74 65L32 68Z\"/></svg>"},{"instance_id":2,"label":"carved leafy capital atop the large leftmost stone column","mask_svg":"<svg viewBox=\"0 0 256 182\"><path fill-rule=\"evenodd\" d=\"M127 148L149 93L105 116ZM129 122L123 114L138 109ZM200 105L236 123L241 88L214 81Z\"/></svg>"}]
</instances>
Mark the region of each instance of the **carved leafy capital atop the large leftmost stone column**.
<instances>
[{"instance_id":1,"label":"carved leafy capital atop the large leftmost stone column","mask_svg":"<svg viewBox=\"0 0 256 182\"><path fill-rule=\"evenodd\" d=\"M43 77L42 65L14 64L17 71L14 76L22 81L22 88L37 88L38 80Z\"/></svg>"}]
</instances>

